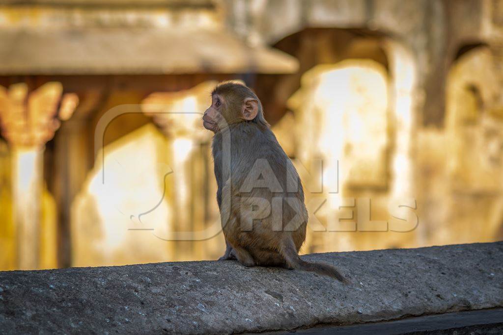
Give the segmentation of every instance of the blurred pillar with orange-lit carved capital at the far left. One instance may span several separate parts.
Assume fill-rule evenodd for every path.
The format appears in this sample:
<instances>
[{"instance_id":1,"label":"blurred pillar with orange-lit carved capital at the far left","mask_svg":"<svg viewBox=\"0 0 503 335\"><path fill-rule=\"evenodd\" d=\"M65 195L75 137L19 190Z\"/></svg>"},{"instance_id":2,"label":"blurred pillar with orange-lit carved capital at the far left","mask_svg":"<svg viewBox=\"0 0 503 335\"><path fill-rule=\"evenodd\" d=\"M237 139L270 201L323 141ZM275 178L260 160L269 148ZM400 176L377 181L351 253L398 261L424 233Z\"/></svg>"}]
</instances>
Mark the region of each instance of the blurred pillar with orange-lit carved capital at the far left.
<instances>
[{"instance_id":1,"label":"blurred pillar with orange-lit carved capital at the far left","mask_svg":"<svg viewBox=\"0 0 503 335\"><path fill-rule=\"evenodd\" d=\"M29 92L25 83L0 86L2 135L12 151L13 221L17 268L40 264L40 224L44 146L78 103L75 94L62 96L61 83L49 82Z\"/></svg>"}]
</instances>

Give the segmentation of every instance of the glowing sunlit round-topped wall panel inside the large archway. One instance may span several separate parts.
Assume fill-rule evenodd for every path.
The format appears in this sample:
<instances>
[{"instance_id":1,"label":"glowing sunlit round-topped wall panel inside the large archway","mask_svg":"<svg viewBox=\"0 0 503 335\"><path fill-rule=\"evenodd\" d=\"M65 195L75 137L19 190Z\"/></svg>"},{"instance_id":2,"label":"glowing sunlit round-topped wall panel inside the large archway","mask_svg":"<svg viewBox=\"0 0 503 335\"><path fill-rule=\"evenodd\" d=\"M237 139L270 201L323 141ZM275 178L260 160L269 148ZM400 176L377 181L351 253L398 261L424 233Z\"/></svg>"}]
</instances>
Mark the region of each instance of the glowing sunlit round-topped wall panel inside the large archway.
<instances>
[{"instance_id":1,"label":"glowing sunlit round-topped wall panel inside the large archway","mask_svg":"<svg viewBox=\"0 0 503 335\"><path fill-rule=\"evenodd\" d=\"M302 138L296 146L295 157L302 163L298 168L322 161L318 173L299 169L306 203L318 203L309 208L305 252L383 248L387 243L380 239L377 245L369 228L371 222L379 227L385 223L387 82L381 64L346 59L306 71L301 88L288 100L297 138ZM321 187L311 189L313 181ZM370 219L371 203L372 216L379 218Z\"/></svg>"}]
</instances>

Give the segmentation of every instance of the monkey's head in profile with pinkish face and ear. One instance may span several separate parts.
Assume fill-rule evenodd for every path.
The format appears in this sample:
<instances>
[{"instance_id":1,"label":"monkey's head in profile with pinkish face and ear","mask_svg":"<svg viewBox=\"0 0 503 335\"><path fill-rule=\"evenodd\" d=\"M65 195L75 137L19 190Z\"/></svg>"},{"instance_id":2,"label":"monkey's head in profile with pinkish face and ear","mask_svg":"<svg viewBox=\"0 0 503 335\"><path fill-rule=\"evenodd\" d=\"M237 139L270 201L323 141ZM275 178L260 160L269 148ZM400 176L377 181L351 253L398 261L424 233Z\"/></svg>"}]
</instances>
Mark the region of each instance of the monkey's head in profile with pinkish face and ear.
<instances>
[{"instance_id":1,"label":"monkey's head in profile with pinkish face and ear","mask_svg":"<svg viewBox=\"0 0 503 335\"><path fill-rule=\"evenodd\" d=\"M235 82L217 85L211 93L211 106L204 112L204 128L216 133L241 122L269 126L262 113L262 103L251 89Z\"/></svg>"}]
</instances>

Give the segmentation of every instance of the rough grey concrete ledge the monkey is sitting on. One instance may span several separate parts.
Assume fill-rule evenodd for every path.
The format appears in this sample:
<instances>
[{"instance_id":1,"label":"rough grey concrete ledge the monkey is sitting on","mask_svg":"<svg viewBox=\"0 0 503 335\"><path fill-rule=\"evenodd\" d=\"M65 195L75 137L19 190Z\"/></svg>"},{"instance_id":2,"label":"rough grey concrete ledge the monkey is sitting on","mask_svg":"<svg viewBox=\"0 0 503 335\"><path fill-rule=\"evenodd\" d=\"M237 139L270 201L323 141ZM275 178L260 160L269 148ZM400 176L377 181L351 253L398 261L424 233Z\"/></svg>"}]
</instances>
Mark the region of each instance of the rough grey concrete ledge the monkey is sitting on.
<instances>
[{"instance_id":1,"label":"rough grey concrete ledge the monkey is sitting on","mask_svg":"<svg viewBox=\"0 0 503 335\"><path fill-rule=\"evenodd\" d=\"M303 258L353 283L234 261L0 272L0 332L258 332L503 306L503 242Z\"/></svg>"}]
</instances>

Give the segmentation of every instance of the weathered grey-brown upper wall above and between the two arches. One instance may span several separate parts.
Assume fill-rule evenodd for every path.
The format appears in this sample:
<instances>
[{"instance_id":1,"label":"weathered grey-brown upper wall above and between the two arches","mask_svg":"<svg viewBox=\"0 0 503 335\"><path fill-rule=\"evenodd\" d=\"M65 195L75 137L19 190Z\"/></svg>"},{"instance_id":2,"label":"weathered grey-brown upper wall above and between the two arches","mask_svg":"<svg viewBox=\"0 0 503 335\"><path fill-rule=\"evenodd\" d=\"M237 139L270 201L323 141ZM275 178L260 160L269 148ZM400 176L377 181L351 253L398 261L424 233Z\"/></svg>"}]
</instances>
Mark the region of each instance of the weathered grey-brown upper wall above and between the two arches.
<instances>
[{"instance_id":1,"label":"weathered grey-brown upper wall above and between the two arches","mask_svg":"<svg viewBox=\"0 0 503 335\"><path fill-rule=\"evenodd\" d=\"M500 53L499 1L478 0L222 0L227 24L250 43L275 44L307 28L364 29L399 42L413 55L419 121L442 126L445 84L456 54L487 43ZM282 13L282 15L277 15Z\"/></svg>"}]
</instances>

